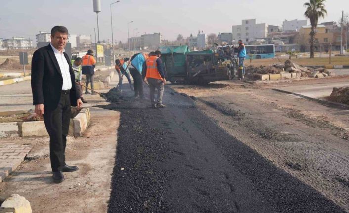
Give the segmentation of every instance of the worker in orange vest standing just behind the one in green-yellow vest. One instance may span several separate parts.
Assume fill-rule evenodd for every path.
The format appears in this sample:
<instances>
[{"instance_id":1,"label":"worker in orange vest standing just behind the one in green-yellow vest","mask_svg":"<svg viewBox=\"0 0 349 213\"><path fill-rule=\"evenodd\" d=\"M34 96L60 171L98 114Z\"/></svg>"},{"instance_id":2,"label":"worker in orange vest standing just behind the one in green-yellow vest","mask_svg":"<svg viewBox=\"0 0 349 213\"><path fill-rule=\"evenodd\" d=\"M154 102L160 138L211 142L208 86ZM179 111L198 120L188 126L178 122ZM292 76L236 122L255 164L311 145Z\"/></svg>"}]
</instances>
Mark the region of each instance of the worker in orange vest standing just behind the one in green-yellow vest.
<instances>
[{"instance_id":1,"label":"worker in orange vest standing just behind the one in green-yellow vest","mask_svg":"<svg viewBox=\"0 0 349 213\"><path fill-rule=\"evenodd\" d=\"M94 68L96 67L96 59L93 57L93 51L88 50L86 55L82 57L83 63L81 64L82 73L86 76L86 83L85 83L85 94L91 94L87 91L88 84L91 83L91 89L92 89L92 95L95 95L96 93L93 91L94 89Z\"/></svg>"}]
</instances>

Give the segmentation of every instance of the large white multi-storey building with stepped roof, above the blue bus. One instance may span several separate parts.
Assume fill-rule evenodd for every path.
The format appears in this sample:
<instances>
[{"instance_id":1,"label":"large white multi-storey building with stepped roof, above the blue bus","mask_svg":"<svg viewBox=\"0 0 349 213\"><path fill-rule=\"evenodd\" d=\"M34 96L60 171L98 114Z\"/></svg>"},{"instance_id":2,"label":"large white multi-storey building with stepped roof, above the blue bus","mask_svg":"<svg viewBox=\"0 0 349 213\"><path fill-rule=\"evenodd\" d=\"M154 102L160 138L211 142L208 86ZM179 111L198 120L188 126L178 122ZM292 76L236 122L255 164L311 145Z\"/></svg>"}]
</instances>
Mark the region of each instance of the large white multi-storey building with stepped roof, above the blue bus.
<instances>
[{"instance_id":1,"label":"large white multi-storey building with stepped roof, above the blue bus","mask_svg":"<svg viewBox=\"0 0 349 213\"><path fill-rule=\"evenodd\" d=\"M232 26L233 42L239 39L248 42L255 39L265 39L268 34L268 25L256 24L256 19L242 20L241 25Z\"/></svg>"}]
</instances>

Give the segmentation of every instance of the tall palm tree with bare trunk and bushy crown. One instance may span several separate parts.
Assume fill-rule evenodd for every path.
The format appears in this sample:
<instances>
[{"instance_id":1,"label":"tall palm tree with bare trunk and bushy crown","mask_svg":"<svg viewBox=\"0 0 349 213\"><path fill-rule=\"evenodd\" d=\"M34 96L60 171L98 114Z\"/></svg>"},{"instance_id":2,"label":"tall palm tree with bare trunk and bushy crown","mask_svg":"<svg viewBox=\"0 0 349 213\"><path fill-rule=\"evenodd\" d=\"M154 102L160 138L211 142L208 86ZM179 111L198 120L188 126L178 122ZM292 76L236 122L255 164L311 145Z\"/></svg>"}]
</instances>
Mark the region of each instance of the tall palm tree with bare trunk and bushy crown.
<instances>
[{"instance_id":1,"label":"tall palm tree with bare trunk and bushy crown","mask_svg":"<svg viewBox=\"0 0 349 213\"><path fill-rule=\"evenodd\" d=\"M310 32L310 58L314 58L314 46L315 46L315 34L317 21L319 17L324 18L327 15L327 11L325 9L325 1L326 0L309 0L310 2L306 2L303 4L306 7L306 11L304 13L305 17L310 20L311 24L311 32Z\"/></svg>"}]
</instances>

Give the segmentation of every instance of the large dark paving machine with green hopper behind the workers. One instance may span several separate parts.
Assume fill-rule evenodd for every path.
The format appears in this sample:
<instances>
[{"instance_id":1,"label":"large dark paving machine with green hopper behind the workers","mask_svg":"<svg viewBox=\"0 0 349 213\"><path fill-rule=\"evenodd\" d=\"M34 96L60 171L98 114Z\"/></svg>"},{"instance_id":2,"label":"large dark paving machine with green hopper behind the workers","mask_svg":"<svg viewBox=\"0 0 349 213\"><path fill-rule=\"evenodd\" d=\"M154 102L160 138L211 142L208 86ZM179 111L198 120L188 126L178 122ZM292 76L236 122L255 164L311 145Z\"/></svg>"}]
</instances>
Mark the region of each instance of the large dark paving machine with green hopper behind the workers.
<instances>
[{"instance_id":1,"label":"large dark paving machine with green hopper behind the workers","mask_svg":"<svg viewBox=\"0 0 349 213\"><path fill-rule=\"evenodd\" d=\"M208 84L236 76L237 60L231 46L189 51L188 46L162 46L166 79L171 83Z\"/></svg>"}]
</instances>

